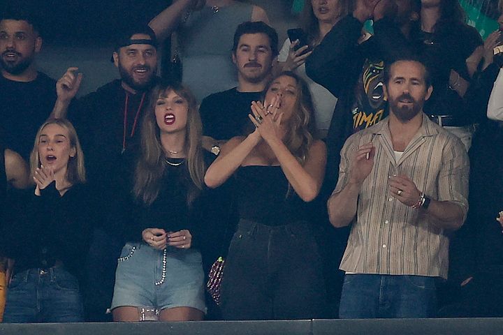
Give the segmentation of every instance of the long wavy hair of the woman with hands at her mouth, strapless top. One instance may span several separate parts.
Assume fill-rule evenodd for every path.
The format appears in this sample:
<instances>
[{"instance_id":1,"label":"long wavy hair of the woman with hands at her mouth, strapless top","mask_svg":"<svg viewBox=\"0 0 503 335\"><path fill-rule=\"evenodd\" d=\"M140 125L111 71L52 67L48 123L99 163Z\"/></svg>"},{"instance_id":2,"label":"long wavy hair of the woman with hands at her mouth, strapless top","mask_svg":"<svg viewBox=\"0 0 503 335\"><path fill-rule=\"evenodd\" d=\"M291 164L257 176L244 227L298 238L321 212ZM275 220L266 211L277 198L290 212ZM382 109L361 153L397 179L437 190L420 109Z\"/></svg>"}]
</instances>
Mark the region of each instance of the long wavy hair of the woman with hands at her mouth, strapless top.
<instances>
[{"instance_id":1,"label":"long wavy hair of the woman with hands at her mouth, strapless top","mask_svg":"<svg viewBox=\"0 0 503 335\"><path fill-rule=\"evenodd\" d=\"M265 87L265 94L267 94L272 83L283 76L291 77L297 83L297 100L293 105L293 113L285 127L286 133L283 142L299 163L303 165L307 159L309 147L311 147L314 137L316 137L312 97L306 82L291 71L283 71L274 77Z\"/></svg>"}]
</instances>

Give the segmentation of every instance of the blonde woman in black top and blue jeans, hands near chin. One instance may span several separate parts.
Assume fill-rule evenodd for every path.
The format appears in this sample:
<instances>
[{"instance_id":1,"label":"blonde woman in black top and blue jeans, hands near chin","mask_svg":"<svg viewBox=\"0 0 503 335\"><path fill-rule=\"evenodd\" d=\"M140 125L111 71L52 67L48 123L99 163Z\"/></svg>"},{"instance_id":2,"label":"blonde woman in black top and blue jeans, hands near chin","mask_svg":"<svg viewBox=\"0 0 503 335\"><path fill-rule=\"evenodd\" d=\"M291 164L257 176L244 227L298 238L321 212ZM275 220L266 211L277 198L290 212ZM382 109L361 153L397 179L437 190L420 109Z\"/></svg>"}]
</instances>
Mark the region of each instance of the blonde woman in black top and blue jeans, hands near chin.
<instances>
[{"instance_id":1,"label":"blonde woman in black top and blue jeans, hands near chin","mask_svg":"<svg viewBox=\"0 0 503 335\"><path fill-rule=\"evenodd\" d=\"M9 232L15 264L4 322L82 322L79 286L93 209L71 123L46 121L30 161L36 188L26 219Z\"/></svg>"}]
</instances>

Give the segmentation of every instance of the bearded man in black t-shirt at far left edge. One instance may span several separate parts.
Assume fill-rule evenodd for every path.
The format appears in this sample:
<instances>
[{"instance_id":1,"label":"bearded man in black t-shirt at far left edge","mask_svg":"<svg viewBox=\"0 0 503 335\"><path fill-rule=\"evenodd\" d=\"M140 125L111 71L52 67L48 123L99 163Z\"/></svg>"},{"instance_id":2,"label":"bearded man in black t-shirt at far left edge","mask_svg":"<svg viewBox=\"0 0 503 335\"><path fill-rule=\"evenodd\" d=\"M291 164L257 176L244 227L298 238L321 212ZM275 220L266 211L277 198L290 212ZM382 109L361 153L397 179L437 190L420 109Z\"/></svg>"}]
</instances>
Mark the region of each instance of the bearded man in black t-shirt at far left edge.
<instances>
[{"instance_id":1,"label":"bearded man in black t-shirt at far left edge","mask_svg":"<svg viewBox=\"0 0 503 335\"><path fill-rule=\"evenodd\" d=\"M19 4L11 7L0 17L0 138L27 160L56 101L56 82L36 69L42 47L36 20Z\"/></svg>"}]
</instances>

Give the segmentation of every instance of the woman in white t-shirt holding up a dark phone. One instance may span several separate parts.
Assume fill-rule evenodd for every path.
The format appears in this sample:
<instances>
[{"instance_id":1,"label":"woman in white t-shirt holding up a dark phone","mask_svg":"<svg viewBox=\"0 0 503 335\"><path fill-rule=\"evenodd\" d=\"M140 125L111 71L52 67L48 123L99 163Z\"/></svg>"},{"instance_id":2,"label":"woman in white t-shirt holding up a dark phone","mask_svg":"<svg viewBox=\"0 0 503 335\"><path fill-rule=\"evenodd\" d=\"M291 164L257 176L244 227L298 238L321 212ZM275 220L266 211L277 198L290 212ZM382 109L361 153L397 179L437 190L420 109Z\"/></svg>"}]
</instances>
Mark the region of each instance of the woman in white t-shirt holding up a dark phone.
<instances>
[{"instance_id":1,"label":"woman in white t-shirt holding up a dark phone","mask_svg":"<svg viewBox=\"0 0 503 335\"><path fill-rule=\"evenodd\" d=\"M307 82L312 94L316 129L321 138L328 133L337 98L307 76L304 63L334 24L349 13L350 5L348 0L305 0L301 27L307 38L305 42L309 45L300 45L300 40L287 38L278 55L279 68L293 71Z\"/></svg>"}]
</instances>

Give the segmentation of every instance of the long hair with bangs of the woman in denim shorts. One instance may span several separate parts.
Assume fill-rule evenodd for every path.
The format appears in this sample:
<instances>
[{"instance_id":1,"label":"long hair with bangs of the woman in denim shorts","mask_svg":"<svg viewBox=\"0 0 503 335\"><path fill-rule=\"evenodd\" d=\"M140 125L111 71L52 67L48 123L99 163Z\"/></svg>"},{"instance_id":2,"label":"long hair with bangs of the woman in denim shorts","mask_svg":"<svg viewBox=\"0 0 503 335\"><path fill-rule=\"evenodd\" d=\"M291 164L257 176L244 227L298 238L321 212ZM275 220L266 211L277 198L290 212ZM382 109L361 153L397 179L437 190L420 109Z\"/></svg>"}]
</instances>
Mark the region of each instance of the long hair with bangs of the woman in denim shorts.
<instances>
[{"instance_id":1,"label":"long hair with bangs of the woman in denim shorts","mask_svg":"<svg viewBox=\"0 0 503 335\"><path fill-rule=\"evenodd\" d=\"M140 141L140 156L136 163L133 194L137 200L152 204L161 191L161 179L166 171L166 153L161 145L159 126L155 116L157 99L168 91L174 91L184 98L188 105L185 148L187 170L192 181L187 191L187 204L191 204L203 189L205 161L201 144L202 124L196 98L182 84L159 82L152 89L149 105L143 117Z\"/></svg>"}]
</instances>

